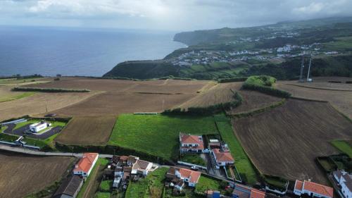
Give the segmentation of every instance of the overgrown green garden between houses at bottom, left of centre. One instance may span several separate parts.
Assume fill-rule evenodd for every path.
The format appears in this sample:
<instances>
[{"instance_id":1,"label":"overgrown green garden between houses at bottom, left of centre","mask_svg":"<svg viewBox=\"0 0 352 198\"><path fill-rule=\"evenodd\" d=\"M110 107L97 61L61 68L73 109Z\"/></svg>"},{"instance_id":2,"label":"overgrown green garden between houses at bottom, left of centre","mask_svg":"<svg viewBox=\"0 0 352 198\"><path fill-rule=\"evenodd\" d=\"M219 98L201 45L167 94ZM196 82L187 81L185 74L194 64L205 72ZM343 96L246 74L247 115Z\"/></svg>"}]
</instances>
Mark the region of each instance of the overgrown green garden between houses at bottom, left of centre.
<instances>
[{"instance_id":1,"label":"overgrown green garden between houses at bottom, left of centre","mask_svg":"<svg viewBox=\"0 0 352 198\"><path fill-rule=\"evenodd\" d=\"M149 173L146 178L137 182L130 182L125 198L161 197L166 172L168 172L168 168L158 168L156 171Z\"/></svg>"}]
</instances>

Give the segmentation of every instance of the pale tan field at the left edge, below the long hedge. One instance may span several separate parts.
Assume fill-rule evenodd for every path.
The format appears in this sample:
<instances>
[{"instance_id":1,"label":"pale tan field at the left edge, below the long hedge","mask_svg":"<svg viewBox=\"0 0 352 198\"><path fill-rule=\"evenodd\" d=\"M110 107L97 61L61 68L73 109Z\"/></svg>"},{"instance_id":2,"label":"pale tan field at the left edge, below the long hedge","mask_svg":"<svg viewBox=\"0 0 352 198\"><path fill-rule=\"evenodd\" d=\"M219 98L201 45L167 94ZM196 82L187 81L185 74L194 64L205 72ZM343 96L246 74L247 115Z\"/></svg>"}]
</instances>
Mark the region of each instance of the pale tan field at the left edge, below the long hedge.
<instances>
[{"instance_id":1,"label":"pale tan field at the left edge, below the long hedge","mask_svg":"<svg viewBox=\"0 0 352 198\"><path fill-rule=\"evenodd\" d=\"M37 93L31 97L1 102L0 120L45 113L46 106L48 111L54 111L69 106L70 104L83 101L94 94L96 93Z\"/></svg>"}]
</instances>

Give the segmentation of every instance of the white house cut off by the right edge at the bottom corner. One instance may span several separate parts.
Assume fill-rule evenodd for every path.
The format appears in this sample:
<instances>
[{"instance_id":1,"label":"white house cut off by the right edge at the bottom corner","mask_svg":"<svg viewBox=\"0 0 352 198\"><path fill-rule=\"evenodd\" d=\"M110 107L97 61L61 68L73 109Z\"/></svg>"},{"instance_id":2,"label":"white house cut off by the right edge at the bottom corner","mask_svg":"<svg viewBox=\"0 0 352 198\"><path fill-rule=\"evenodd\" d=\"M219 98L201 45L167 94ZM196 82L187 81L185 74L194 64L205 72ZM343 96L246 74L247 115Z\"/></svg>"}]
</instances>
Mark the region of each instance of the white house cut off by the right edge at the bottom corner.
<instances>
[{"instance_id":1,"label":"white house cut off by the right edge at the bottom corner","mask_svg":"<svg viewBox=\"0 0 352 198\"><path fill-rule=\"evenodd\" d=\"M352 174L338 170L334 171L334 178L341 186L341 194L344 194L345 198L352 198Z\"/></svg>"}]
</instances>

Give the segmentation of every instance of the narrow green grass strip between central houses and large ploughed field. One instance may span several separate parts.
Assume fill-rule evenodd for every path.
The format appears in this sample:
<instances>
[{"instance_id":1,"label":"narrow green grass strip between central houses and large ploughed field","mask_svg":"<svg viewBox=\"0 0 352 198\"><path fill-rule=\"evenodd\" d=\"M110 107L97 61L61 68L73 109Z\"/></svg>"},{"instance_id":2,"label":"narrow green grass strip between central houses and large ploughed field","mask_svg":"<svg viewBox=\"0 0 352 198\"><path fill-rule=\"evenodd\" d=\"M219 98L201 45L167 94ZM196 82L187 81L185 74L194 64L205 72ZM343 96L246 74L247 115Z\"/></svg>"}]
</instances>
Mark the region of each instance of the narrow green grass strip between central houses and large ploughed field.
<instances>
[{"instance_id":1,"label":"narrow green grass strip between central houses and large ploughed field","mask_svg":"<svg viewBox=\"0 0 352 198\"><path fill-rule=\"evenodd\" d=\"M249 157L244 152L244 149L241 147L239 140L228 120L225 116L215 116L216 125L222 140L224 140L230 147L232 156L234 157L234 165L241 174L241 179L246 180L249 184L253 185L257 181L256 171L254 170Z\"/></svg>"}]
</instances>

